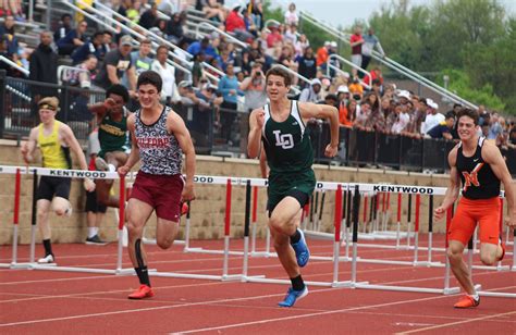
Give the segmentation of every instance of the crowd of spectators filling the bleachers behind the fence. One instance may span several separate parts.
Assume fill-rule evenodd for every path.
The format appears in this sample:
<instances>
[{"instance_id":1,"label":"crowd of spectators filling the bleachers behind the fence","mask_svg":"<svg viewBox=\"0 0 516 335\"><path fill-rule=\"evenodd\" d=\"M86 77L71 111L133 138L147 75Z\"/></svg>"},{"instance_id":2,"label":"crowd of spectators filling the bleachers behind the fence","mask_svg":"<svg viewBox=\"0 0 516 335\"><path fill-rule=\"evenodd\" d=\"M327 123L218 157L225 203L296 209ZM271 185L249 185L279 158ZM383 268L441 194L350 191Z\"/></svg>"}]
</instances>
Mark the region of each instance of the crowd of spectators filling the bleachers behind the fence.
<instances>
[{"instance_id":1,"label":"crowd of spectators filling the bleachers behind the fence","mask_svg":"<svg viewBox=\"0 0 516 335\"><path fill-rule=\"evenodd\" d=\"M246 48L216 32L199 39L186 35L185 9L188 3L185 1L120 0L110 1L111 8L126 17L130 22L124 23L145 38L136 40L120 27L113 26L116 33L112 33L113 29L106 29L86 17L77 20L77 16L63 14L52 33L40 34L39 46L29 54L16 38L16 14L5 10L5 3L9 8L14 2L0 0L0 10L3 9L0 16L7 15L0 25L0 54L28 69L30 79L52 84L57 84L59 78L57 69L49 64L57 64L58 57L66 58L78 72L73 76L75 85L106 89L122 84L132 97L136 97L134 90L138 74L155 70L163 78L163 103L198 107L202 111L200 115L205 115L208 109L214 110L213 126L220 128L222 138L229 144L239 141L243 152L246 116L250 110L266 103L265 73L274 64L302 76L302 79L297 76L294 79L298 88L296 99L336 106L343 127L415 138L457 139L456 109L443 114L443 108L440 109L435 101L384 83L381 67L370 63L373 50L385 55L372 27L366 34L363 34L361 26L355 27L349 44L351 61L356 66L345 72L341 70L343 64L339 59L332 57L339 54L335 41L311 46L298 32L299 14L294 3L288 5L282 23L265 26L267 17L263 17L260 0L233 1L226 3L229 7L223 2L197 0L195 8L219 29L246 44ZM165 47L156 40L155 35L177 47ZM161 46L152 48L152 42ZM191 78L168 62L171 53L180 63L191 62ZM193 59L189 60L187 54ZM3 62L0 66L8 70L8 75L21 76ZM368 73L357 71L357 67ZM210 79L213 76L219 77L218 83ZM236 110L243 113L228 112ZM496 112L487 112L483 108L479 113L482 132L489 139L500 146L516 145L514 121L506 122ZM235 124L239 124L238 138L232 134Z\"/></svg>"}]
</instances>

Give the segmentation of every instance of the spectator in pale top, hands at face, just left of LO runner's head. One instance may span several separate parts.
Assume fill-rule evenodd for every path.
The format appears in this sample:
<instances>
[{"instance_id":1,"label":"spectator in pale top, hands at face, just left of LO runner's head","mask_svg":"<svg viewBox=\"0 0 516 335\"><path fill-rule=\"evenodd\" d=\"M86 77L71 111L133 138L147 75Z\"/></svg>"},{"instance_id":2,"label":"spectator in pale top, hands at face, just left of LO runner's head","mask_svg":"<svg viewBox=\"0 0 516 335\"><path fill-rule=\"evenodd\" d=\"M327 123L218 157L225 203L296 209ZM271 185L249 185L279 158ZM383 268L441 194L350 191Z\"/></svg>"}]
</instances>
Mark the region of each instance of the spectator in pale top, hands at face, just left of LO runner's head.
<instances>
[{"instance_id":1,"label":"spectator in pale top, hands at face, just left of LO runner's head","mask_svg":"<svg viewBox=\"0 0 516 335\"><path fill-rule=\"evenodd\" d=\"M245 104L244 113L241 113L241 154L247 152L247 135L249 133L249 113L267 103L266 76L262 64L253 64L250 76L241 83L241 90L244 91Z\"/></svg>"}]
</instances>

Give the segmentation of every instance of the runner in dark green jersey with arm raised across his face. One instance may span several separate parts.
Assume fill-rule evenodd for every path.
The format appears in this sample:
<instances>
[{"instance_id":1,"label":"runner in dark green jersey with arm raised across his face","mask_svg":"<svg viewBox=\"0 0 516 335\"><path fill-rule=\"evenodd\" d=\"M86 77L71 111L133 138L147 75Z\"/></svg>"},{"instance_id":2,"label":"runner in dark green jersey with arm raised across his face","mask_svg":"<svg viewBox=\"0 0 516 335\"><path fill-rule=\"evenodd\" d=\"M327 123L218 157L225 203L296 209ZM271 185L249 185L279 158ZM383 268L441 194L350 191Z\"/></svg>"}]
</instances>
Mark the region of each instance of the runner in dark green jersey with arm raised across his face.
<instances>
[{"instance_id":1,"label":"runner in dark green jersey with arm raised across his face","mask_svg":"<svg viewBox=\"0 0 516 335\"><path fill-rule=\"evenodd\" d=\"M122 85L112 85L106 91L106 101L89 106L96 116L100 152L95 166L100 171L116 171L127 161L127 116L125 103L128 91ZM97 179L97 202L99 206L119 207L119 197L111 195L113 181Z\"/></svg>"}]
</instances>

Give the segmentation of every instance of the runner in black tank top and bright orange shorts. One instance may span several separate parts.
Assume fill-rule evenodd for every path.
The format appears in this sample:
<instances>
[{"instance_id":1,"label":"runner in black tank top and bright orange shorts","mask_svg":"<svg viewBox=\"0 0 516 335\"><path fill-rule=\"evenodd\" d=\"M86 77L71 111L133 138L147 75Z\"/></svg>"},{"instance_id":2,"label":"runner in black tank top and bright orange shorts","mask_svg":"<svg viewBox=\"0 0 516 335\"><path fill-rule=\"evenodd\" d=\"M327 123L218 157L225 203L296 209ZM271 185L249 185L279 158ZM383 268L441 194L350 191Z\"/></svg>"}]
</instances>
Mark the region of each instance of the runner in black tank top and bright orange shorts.
<instances>
[{"instance_id":1,"label":"runner in black tank top and bright orange shorts","mask_svg":"<svg viewBox=\"0 0 516 335\"><path fill-rule=\"evenodd\" d=\"M434 216L440 220L459 195L463 197L450 226L447 256L452 271L466 291L455 308L470 308L480 303L471 276L463 260L465 246L471 238L477 222L480 232L480 259L487 265L502 260L505 246L500 237L500 182L505 189L508 206L508 222L516 226L516 194L513 179L499 148L478 135L478 113L470 109L458 112L458 136L460 144L450 151L450 186Z\"/></svg>"}]
</instances>

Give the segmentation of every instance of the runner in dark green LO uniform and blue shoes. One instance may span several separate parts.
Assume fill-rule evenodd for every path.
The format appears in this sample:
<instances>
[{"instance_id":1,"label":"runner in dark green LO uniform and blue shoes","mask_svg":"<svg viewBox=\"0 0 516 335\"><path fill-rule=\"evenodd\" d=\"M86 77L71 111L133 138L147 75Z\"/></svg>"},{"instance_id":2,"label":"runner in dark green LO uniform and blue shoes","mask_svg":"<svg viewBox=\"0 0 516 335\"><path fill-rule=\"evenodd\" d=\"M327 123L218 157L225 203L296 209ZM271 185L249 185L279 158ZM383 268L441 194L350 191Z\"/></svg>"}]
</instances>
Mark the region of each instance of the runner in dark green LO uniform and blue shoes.
<instances>
[{"instance_id":1,"label":"runner in dark green LO uniform and blue shoes","mask_svg":"<svg viewBox=\"0 0 516 335\"><path fill-rule=\"evenodd\" d=\"M299 268L306 265L310 252L303 232L297 228L302 209L316 186L311 169L314 150L306 128L307 121L311 117L330 120L331 142L324 151L327 157L335 156L339 144L336 108L291 101L286 98L290 85L287 72L281 67L269 70L267 95L270 103L250 114L247 146L249 157L265 154L270 169L267 203L269 228L278 258L292 282L285 299L279 303L281 307L292 307L297 299L308 294Z\"/></svg>"}]
</instances>

